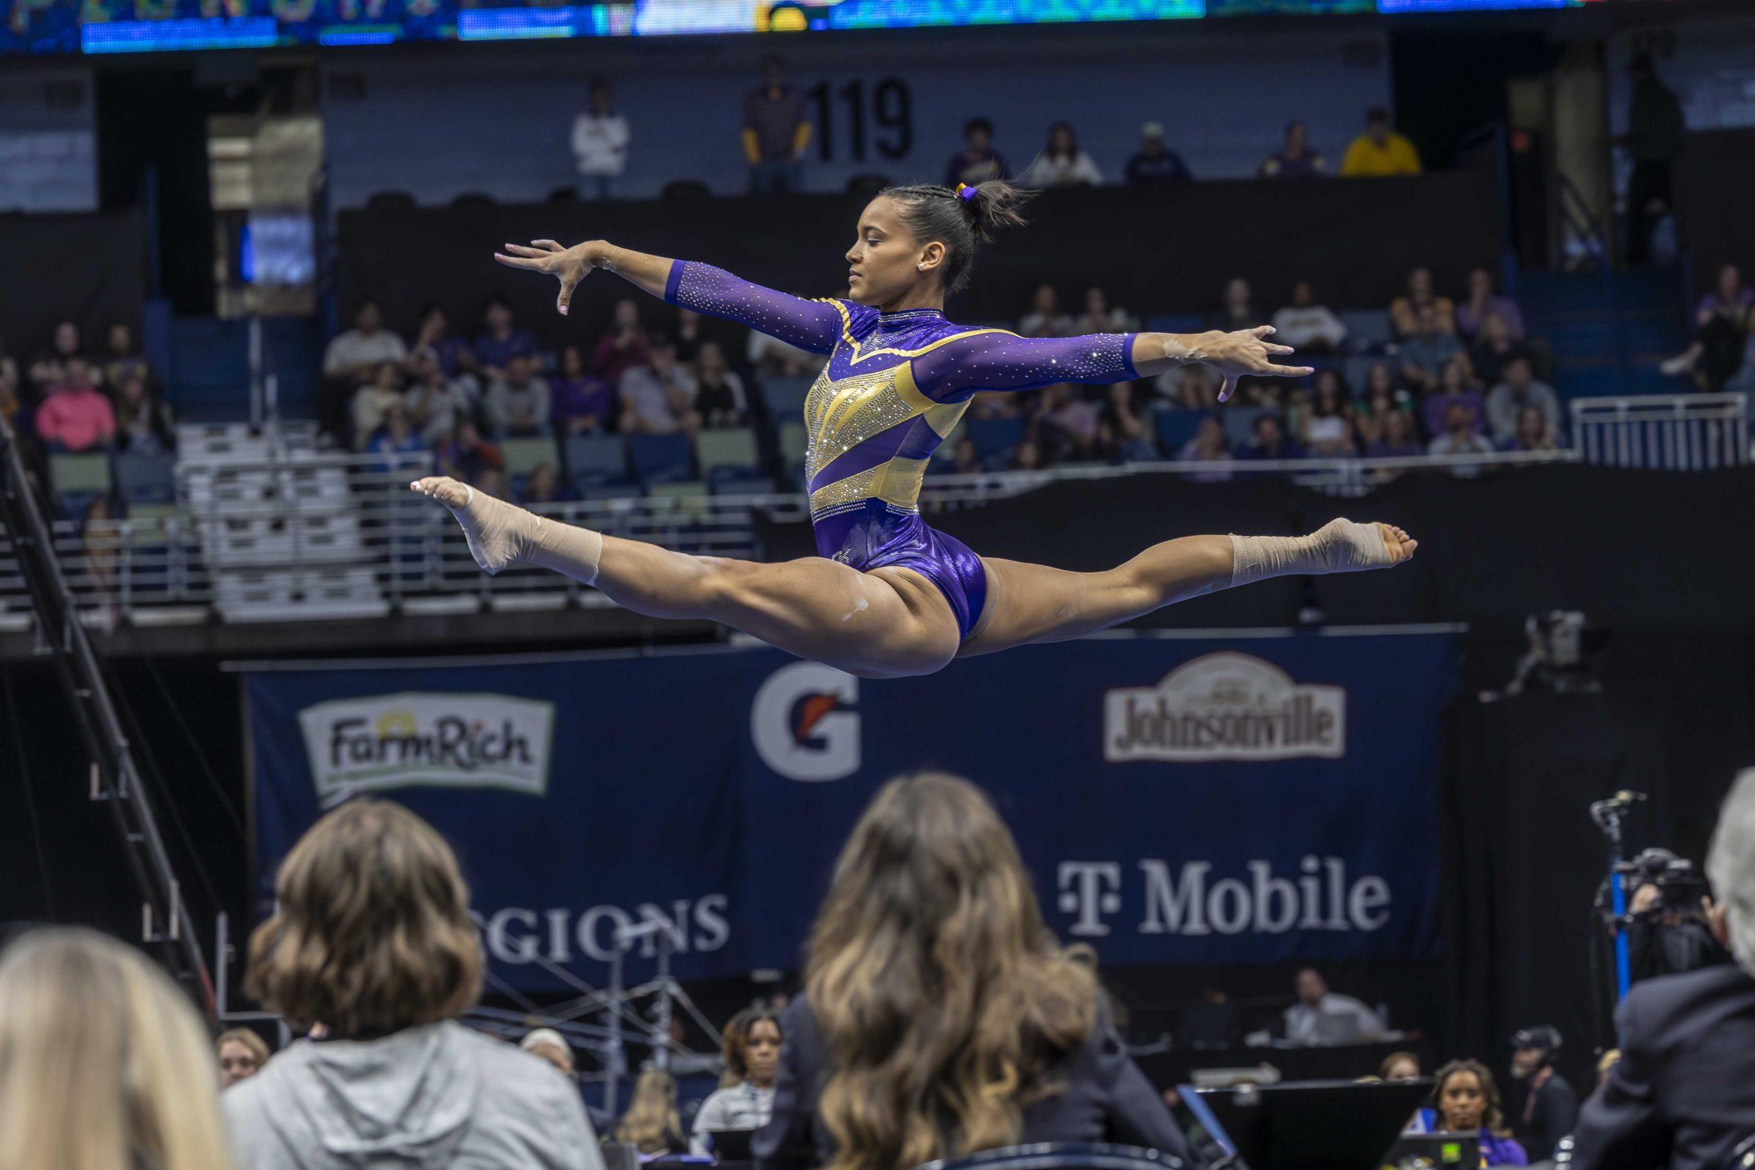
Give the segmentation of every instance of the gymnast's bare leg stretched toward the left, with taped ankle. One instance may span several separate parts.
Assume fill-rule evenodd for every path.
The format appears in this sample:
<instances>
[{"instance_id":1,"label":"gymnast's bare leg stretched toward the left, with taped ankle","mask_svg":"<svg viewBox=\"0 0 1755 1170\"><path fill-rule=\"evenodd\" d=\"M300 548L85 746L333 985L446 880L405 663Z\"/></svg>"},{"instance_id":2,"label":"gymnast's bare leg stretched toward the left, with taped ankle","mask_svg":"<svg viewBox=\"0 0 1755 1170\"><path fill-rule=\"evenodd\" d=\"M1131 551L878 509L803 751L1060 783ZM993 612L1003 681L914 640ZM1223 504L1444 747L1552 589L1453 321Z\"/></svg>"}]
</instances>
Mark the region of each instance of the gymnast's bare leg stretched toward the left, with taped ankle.
<instances>
[{"instance_id":1,"label":"gymnast's bare leg stretched toward the left, with taped ankle","mask_svg":"<svg viewBox=\"0 0 1755 1170\"><path fill-rule=\"evenodd\" d=\"M595 584L651 617L704 617L865 677L932 674L956 654L956 617L907 568L858 572L821 556L758 563L690 556L560 524L444 475L416 481L456 516L486 572L512 563Z\"/></svg>"}]
</instances>

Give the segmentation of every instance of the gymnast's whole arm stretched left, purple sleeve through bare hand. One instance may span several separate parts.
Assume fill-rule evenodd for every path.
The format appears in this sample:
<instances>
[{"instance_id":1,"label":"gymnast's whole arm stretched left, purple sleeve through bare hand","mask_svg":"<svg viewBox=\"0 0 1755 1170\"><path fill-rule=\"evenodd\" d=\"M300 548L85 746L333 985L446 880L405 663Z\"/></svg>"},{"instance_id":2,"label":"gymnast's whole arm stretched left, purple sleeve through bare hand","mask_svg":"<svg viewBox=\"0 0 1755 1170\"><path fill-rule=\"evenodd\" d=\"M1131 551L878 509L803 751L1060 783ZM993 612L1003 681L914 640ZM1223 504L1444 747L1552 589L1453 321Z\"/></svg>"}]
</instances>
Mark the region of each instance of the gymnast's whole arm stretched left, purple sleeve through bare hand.
<instances>
[{"instance_id":1,"label":"gymnast's whole arm stretched left, purple sleeve through bare hand","mask_svg":"<svg viewBox=\"0 0 1755 1170\"><path fill-rule=\"evenodd\" d=\"M562 247L555 240L532 240L528 247L507 244L505 253L495 253L493 258L511 268L558 277L560 296L555 307L563 314L579 281L591 268L604 268L672 305L748 325L799 349L827 354L841 339L842 316L832 302L806 300L762 288L723 268L691 260L648 256L607 240L588 240L572 247Z\"/></svg>"}]
</instances>

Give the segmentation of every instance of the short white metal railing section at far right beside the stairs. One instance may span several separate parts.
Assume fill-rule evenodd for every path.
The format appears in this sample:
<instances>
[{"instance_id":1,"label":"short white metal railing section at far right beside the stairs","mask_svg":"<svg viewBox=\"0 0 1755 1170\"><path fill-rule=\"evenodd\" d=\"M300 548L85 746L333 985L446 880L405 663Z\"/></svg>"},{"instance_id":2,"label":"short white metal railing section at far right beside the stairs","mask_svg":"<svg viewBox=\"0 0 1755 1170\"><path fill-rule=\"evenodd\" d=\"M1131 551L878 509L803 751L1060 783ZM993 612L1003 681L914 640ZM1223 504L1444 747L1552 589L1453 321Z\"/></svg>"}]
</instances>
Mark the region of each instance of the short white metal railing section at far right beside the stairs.
<instances>
[{"instance_id":1,"label":"short white metal railing section at far right beside the stairs","mask_svg":"<svg viewBox=\"0 0 1755 1170\"><path fill-rule=\"evenodd\" d=\"M1743 395L1574 398L1572 440L1587 463L1702 472L1750 461Z\"/></svg>"}]
</instances>

